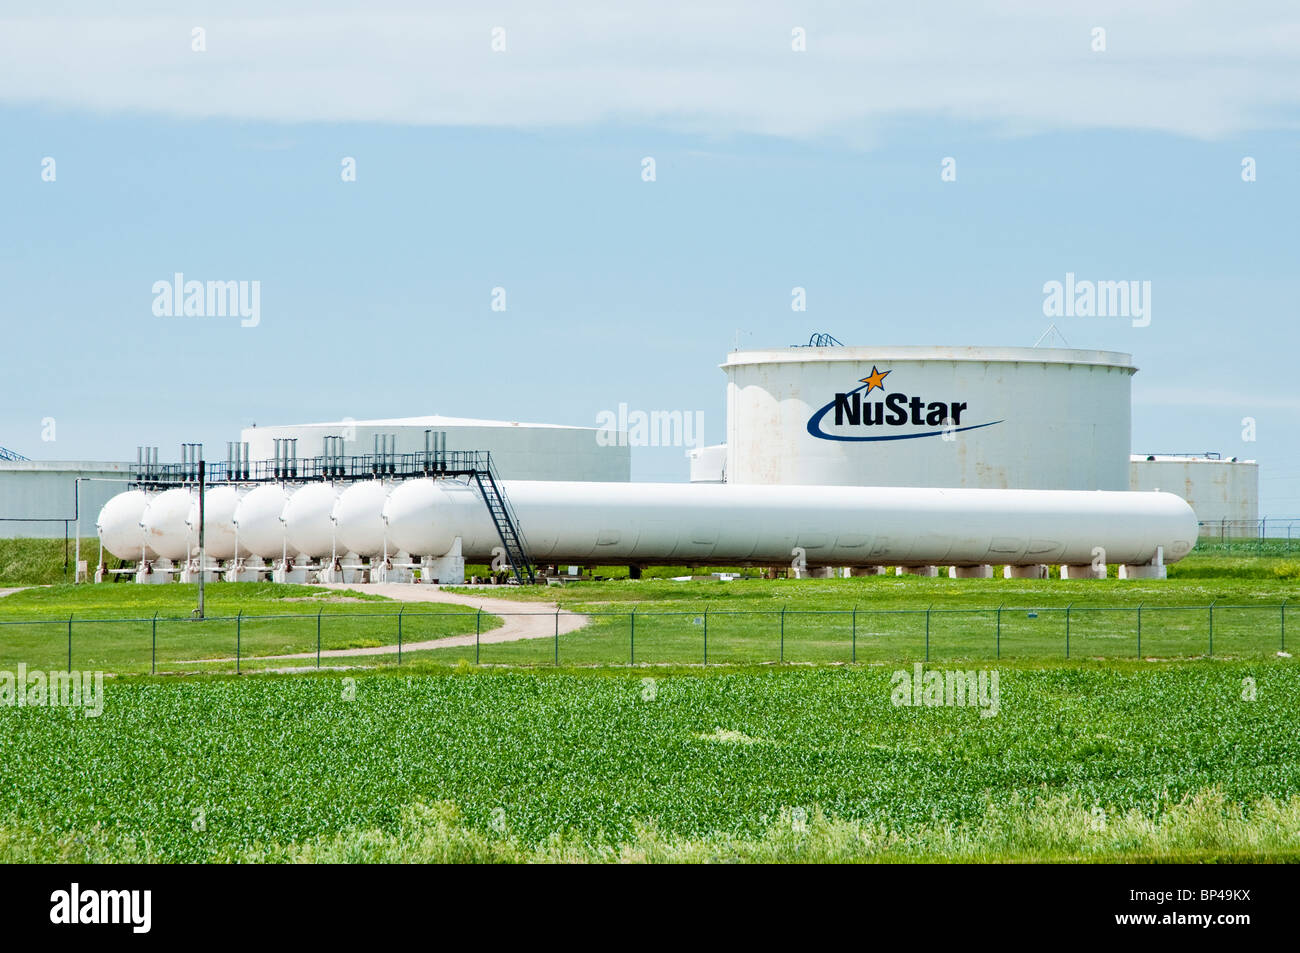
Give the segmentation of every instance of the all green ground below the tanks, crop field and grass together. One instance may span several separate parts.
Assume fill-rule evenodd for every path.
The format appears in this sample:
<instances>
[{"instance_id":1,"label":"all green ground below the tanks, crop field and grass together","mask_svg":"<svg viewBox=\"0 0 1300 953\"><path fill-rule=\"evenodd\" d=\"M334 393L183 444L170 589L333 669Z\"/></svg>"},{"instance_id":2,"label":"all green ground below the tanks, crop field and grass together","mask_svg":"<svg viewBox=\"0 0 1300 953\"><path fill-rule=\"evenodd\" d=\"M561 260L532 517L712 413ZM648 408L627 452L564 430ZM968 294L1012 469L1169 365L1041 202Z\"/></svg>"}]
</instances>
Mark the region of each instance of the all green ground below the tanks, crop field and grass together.
<instances>
[{"instance_id":1,"label":"all green ground below the tanks, crop field and grass together","mask_svg":"<svg viewBox=\"0 0 1300 953\"><path fill-rule=\"evenodd\" d=\"M317 624L393 645L400 606L216 584L199 623L195 586L30 589L0 598L0 673L66 667L72 616L74 667L121 677L99 718L0 703L0 861L1300 861L1288 566L497 586L472 592L590 615L560 667L541 638L318 675L248 672ZM403 644L480 621L421 608ZM890 702L926 610L931 668L996 670L997 715ZM181 664L230 657L237 616L244 675Z\"/></svg>"}]
</instances>

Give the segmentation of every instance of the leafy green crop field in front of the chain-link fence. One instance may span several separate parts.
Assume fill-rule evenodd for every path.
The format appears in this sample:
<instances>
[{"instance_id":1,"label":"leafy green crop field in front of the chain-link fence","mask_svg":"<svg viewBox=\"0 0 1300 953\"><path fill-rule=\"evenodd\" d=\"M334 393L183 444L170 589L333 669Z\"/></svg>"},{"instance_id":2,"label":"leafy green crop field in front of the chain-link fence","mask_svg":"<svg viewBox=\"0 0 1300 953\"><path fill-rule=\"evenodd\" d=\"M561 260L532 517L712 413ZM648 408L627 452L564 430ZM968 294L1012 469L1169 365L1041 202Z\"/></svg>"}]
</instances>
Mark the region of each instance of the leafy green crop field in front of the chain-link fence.
<instances>
[{"instance_id":1,"label":"leafy green crop field in front of the chain-link fence","mask_svg":"<svg viewBox=\"0 0 1300 953\"><path fill-rule=\"evenodd\" d=\"M1300 858L1290 660L109 680L0 707L0 859Z\"/></svg>"}]
</instances>

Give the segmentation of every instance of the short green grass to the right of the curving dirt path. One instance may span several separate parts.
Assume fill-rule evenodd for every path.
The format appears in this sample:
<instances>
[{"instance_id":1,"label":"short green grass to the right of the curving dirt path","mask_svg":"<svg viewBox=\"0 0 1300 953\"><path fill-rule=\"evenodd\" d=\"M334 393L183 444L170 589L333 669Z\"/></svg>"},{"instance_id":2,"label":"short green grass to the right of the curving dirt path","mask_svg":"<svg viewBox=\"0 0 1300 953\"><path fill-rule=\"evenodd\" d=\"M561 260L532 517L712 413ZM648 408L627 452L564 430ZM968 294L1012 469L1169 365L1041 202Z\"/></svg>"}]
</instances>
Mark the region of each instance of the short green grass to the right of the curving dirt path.
<instances>
[{"instance_id":1,"label":"short green grass to the right of the curving dirt path","mask_svg":"<svg viewBox=\"0 0 1300 953\"><path fill-rule=\"evenodd\" d=\"M472 592L472 590L464 590ZM562 663L871 662L950 658L1264 658L1300 631L1297 585L1225 580L668 580L504 588L494 595L558 601L592 625L560 637ZM1213 646L1210 614L1216 603ZM1283 610L1283 606L1286 608ZM1001 612L998 611L998 607ZM927 620L927 608L928 620ZM783 620L784 611L784 620ZM633 618L634 614L634 618ZM928 629L928 637L927 637ZM784 633L784 636L783 636ZM447 649L445 662L469 658ZM500 644L482 662L554 663L554 646Z\"/></svg>"}]
</instances>

